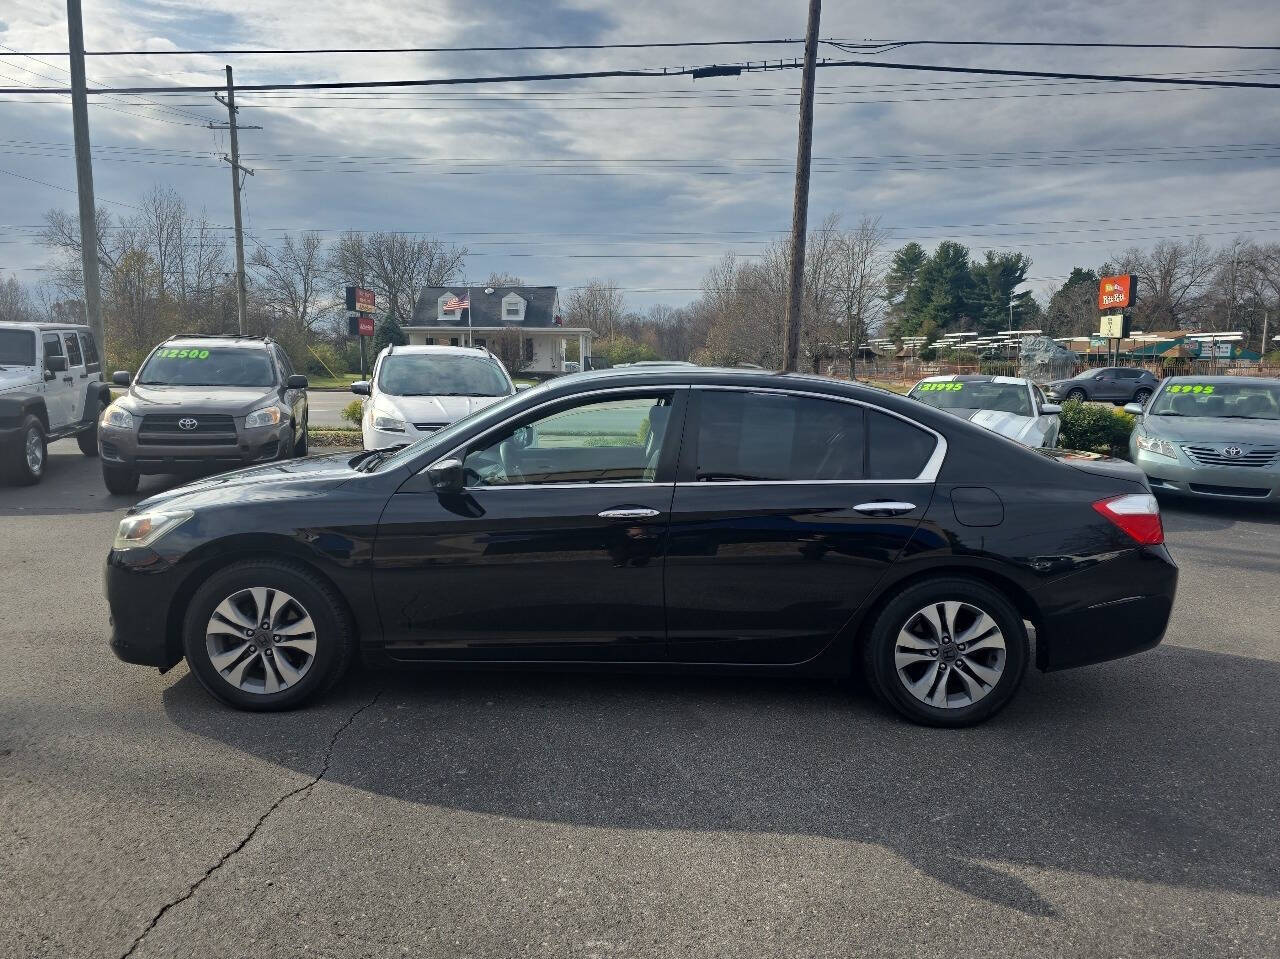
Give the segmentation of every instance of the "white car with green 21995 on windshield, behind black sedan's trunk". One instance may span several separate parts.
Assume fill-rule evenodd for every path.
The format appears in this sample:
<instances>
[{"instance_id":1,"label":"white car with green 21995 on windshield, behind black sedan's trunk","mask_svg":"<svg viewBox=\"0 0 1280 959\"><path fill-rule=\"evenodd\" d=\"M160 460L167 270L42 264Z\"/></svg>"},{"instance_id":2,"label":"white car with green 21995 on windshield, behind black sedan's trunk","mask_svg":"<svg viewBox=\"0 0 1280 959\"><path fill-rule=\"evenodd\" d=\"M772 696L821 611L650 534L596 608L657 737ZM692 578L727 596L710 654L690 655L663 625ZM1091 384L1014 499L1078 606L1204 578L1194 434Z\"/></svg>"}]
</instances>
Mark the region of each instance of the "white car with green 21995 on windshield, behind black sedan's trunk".
<instances>
[{"instance_id":1,"label":"white car with green 21995 on windshield, behind black sedan's trunk","mask_svg":"<svg viewBox=\"0 0 1280 959\"><path fill-rule=\"evenodd\" d=\"M1023 446L1057 446L1061 406L1021 376L928 376L908 393L913 399L964 417Z\"/></svg>"}]
</instances>

